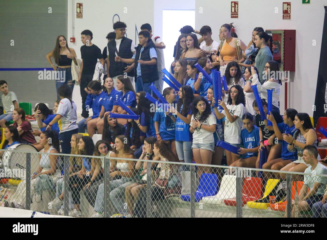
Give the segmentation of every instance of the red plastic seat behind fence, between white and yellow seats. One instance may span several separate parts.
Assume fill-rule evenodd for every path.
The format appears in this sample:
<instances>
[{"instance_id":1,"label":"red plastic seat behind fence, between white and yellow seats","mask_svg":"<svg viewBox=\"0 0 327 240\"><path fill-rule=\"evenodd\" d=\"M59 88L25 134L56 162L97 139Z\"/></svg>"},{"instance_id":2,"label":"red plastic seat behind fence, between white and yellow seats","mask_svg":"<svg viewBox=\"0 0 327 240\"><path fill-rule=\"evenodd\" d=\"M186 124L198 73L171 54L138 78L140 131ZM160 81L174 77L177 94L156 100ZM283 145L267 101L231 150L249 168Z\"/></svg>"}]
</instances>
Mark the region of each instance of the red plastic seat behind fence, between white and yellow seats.
<instances>
[{"instance_id":1,"label":"red plastic seat behind fence, between white and yellow seats","mask_svg":"<svg viewBox=\"0 0 327 240\"><path fill-rule=\"evenodd\" d=\"M263 192L263 184L261 178L245 178L243 183L243 199L242 206L248 201L255 201L261 198ZM236 198L224 200L227 206L236 206Z\"/></svg>"}]
</instances>

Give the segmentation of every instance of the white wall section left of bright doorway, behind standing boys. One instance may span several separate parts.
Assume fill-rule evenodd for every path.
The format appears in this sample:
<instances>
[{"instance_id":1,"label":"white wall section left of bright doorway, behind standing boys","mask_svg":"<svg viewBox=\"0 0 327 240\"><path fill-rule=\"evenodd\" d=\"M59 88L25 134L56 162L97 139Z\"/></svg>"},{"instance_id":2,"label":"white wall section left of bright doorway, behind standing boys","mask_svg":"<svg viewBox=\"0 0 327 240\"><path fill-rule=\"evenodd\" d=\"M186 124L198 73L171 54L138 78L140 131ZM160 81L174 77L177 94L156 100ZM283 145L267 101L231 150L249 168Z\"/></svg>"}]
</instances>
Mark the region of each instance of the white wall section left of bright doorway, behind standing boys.
<instances>
[{"instance_id":1,"label":"white wall section left of bright doorway, behind standing boys","mask_svg":"<svg viewBox=\"0 0 327 240\"><path fill-rule=\"evenodd\" d=\"M76 3L83 3L83 18L76 18ZM123 0L123 1L108 1L108 0L69 0L68 1L68 16L67 16L67 40L73 36L76 38L75 43L70 43L69 46L76 50L77 57L80 58L80 47L82 42L80 40L80 33L89 29L93 33L92 43L97 45L101 52L107 46L106 36L109 32L113 31L113 22L118 21L118 14L120 21L125 22L127 25L127 37L135 42L135 24L137 32L140 32L141 25L149 23L153 26L153 8L152 0ZM72 25L75 23L75 29ZM136 34L137 45L139 43ZM77 105L77 113L82 112L82 99L80 96L79 86L75 86L73 92L73 100Z\"/></svg>"}]
</instances>

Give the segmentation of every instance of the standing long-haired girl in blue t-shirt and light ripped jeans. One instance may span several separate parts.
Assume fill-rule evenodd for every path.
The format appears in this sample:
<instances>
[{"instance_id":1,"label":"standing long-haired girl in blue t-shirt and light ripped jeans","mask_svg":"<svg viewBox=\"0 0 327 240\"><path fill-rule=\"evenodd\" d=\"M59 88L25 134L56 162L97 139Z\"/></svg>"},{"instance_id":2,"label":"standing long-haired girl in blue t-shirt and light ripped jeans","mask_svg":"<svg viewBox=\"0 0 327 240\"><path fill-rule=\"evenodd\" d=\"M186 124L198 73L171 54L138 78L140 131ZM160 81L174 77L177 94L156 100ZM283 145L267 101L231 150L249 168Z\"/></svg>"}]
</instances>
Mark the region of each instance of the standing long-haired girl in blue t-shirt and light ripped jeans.
<instances>
[{"instance_id":1,"label":"standing long-haired girl in blue t-shirt and light ripped jeans","mask_svg":"<svg viewBox=\"0 0 327 240\"><path fill-rule=\"evenodd\" d=\"M178 92L179 100L177 109L169 107L169 112L174 116L175 122L175 145L179 160L192 163L192 134L190 133L190 122L192 117L193 91L190 86L181 86ZM176 116L176 117L175 117ZM185 170L189 169L188 167Z\"/></svg>"}]
</instances>

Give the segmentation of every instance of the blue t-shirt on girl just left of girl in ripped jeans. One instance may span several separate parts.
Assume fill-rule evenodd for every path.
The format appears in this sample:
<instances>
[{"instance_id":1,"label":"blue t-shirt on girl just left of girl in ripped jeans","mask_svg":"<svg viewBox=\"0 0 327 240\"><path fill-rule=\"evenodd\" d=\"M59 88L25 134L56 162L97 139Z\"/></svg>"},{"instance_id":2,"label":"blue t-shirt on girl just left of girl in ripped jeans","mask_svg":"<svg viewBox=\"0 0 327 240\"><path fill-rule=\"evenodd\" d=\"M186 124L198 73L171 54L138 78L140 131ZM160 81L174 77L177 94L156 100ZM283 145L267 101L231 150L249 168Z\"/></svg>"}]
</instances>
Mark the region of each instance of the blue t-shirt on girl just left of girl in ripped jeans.
<instances>
[{"instance_id":1,"label":"blue t-shirt on girl just left of girl in ripped jeans","mask_svg":"<svg viewBox=\"0 0 327 240\"><path fill-rule=\"evenodd\" d=\"M168 125L166 124L166 118L168 118ZM171 140L175 138L175 122L171 120L170 117L166 116L163 109L157 108L153 120L159 122L159 132L163 140Z\"/></svg>"}]
</instances>

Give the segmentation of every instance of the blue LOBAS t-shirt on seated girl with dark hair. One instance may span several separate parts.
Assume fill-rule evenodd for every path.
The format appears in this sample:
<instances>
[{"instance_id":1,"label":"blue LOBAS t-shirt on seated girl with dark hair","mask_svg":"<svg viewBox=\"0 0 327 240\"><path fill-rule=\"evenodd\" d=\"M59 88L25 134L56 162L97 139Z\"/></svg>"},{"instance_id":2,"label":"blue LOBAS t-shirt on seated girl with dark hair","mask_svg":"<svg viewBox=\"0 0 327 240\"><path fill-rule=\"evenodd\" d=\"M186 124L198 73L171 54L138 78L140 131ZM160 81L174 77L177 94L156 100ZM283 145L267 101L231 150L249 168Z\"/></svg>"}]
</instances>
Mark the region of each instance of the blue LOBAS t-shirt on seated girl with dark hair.
<instances>
[{"instance_id":1,"label":"blue LOBAS t-shirt on seated girl with dark hair","mask_svg":"<svg viewBox=\"0 0 327 240\"><path fill-rule=\"evenodd\" d=\"M246 149L252 149L258 147L260 145L259 128L257 126L253 126L251 132L249 132L244 128L241 131L241 139L242 139L242 145ZM258 156L257 152L247 152L245 153L244 158L255 157L255 156Z\"/></svg>"}]
</instances>

